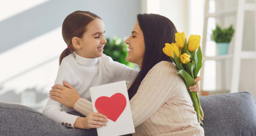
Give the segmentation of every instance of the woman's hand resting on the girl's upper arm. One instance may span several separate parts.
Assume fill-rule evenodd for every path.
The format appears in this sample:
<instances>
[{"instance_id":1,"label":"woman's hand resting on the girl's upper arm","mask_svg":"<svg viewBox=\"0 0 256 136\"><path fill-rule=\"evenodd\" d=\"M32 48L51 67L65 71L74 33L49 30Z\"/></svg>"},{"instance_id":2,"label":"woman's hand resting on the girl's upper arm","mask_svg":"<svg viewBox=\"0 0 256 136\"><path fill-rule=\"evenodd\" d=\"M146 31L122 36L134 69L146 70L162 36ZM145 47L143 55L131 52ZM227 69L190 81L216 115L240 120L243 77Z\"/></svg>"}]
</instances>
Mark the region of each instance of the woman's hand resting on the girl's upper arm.
<instances>
[{"instance_id":1,"label":"woman's hand resting on the girl's upper arm","mask_svg":"<svg viewBox=\"0 0 256 136\"><path fill-rule=\"evenodd\" d=\"M51 99L58 101L71 109L74 109L75 103L79 98L81 98L81 96L79 95L77 90L75 90L75 88L71 86L71 84L65 81L63 81L63 84L64 86L59 84L54 85L52 87L52 90L49 91L49 95Z\"/></svg>"}]
</instances>

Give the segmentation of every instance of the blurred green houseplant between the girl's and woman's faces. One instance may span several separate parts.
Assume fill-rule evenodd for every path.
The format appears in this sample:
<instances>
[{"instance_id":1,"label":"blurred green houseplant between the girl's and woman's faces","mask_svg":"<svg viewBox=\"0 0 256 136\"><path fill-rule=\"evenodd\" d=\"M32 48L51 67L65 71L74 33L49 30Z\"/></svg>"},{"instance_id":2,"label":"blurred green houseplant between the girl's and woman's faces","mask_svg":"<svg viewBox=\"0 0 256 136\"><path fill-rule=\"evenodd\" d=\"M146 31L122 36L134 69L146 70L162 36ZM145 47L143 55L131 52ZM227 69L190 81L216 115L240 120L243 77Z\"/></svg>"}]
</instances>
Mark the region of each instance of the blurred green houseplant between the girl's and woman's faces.
<instances>
[{"instance_id":1,"label":"blurred green houseplant between the girl's and woman's faces","mask_svg":"<svg viewBox=\"0 0 256 136\"><path fill-rule=\"evenodd\" d=\"M126 60L128 45L117 36L113 37L113 41L110 41L109 38L106 38L107 43L104 46L103 54L110 56L113 61L125 64L128 67L135 68L133 63L130 63Z\"/></svg>"}]
</instances>

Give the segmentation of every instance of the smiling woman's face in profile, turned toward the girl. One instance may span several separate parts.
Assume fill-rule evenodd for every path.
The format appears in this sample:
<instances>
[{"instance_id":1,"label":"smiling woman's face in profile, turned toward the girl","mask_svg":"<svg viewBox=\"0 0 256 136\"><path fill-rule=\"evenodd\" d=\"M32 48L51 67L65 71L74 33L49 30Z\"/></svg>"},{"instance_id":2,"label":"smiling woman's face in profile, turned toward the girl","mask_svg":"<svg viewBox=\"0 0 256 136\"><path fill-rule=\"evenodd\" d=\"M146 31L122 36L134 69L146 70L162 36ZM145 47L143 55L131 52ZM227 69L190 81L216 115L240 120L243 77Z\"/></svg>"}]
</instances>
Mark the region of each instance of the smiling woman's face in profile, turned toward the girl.
<instances>
[{"instance_id":1,"label":"smiling woman's face in profile, turned toward the girl","mask_svg":"<svg viewBox=\"0 0 256 136\"><path fill-rule=\"evenodd\" d=\"M131 36L125 40L125 43L129 45L126 60L131 63L136 63L141 67L145 52L145 42L143 32L138 22L135 24Z\"/></svg>"}]
</instances>

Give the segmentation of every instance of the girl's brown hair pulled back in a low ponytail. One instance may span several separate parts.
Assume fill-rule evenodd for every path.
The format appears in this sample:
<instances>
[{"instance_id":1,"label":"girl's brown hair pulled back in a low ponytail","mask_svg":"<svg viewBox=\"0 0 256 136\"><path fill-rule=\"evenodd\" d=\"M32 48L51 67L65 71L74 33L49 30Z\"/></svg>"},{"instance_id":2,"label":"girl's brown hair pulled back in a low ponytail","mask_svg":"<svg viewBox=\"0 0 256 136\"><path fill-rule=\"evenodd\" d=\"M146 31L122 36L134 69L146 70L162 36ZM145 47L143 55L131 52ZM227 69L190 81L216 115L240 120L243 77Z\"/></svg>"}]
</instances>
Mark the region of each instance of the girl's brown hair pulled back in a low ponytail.
<instances>
[{"instance_id":1,"label":"girl's brown hair pulled back in a low ponytail","mask_svg":"<svg viewBox=\"0 0 256 136\"><path fill-rule=\"evenodd\" d=\"M83 34L86 32L86 26L97 18L101 19L99 16L89 11L75 11L65 18L62 24L62 37L70 49L66 48L61 53L61 56L59 57L59 65L63 58L75 52L72 38L82 38Z\"/></svg>"}]
</instances>

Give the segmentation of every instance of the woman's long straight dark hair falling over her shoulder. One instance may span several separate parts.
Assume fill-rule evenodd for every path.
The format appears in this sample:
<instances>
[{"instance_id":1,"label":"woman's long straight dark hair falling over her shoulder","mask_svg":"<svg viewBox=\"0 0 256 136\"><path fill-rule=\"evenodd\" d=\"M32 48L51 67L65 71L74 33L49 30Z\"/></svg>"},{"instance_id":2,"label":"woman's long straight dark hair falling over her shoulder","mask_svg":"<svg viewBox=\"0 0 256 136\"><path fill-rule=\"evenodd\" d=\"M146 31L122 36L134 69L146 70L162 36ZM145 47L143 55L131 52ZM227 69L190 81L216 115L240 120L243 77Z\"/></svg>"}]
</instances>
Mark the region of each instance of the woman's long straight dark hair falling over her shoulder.
<instances>
[{"instance_id":1,"label":"woman's long straight dark hair falling over her shoulder","mask_svg":"<svg viewBox=\"0 0 256 136\"><path fill-rule=\"evenodd\" d=\"M142 80L148 71L161 61L172 59L164 54L165 43L175 43L176 27L168 18L158 14L138 14L137 21L144 35L145 52L141 64L141 71L128 89L129 99L137 93Z\"/></svg>"}]
</instances>

